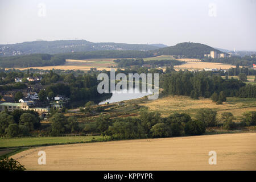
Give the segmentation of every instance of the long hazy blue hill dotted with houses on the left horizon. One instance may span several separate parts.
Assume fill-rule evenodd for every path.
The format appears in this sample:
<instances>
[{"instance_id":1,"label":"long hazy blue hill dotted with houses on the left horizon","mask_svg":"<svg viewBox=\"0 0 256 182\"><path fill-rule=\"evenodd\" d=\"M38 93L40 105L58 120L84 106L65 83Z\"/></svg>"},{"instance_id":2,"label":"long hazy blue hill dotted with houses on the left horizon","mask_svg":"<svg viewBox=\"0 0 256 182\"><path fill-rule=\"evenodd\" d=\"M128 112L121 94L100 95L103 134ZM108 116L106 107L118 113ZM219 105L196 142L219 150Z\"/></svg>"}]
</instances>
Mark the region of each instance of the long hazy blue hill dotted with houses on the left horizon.
<instances>
[{"instance_id":1,"label":"long hazy blue hill dotted with houses on the left horizon","mask_svg":"<svg viewBox=\"0 0 256 182\"><path fill-rule=\"evenodd\" d=\"M147 44L93 43L86 40L33 41L0 45L0 56L28 55L33 53L72 53L88 51L149 51L158 46Z\"/></svg>"}]
</instances>

